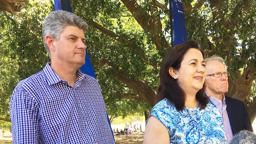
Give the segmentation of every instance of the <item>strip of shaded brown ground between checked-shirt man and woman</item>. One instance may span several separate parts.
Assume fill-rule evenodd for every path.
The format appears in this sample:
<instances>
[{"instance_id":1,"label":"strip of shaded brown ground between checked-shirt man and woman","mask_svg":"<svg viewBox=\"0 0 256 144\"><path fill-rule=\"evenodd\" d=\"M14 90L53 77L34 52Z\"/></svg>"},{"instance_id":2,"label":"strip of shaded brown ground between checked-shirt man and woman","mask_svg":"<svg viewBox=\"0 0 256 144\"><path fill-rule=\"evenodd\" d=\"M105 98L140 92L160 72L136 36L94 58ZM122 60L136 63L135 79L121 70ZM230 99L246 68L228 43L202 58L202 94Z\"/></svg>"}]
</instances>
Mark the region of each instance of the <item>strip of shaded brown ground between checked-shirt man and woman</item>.
<instances>
[{"instance_id":1,"label":"strip of shaded brown ground between checked-shirt man and woman","mask_svg":"<svg viewBox=\"0 0 256 144\"><path fill-rule=\"evenodd\" d=\"M135 133L128 135L115 135L116 144L142 144L143 133Z\"/></svg>"}]
</instances>

